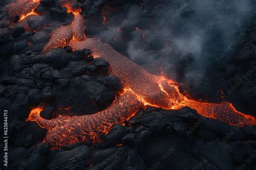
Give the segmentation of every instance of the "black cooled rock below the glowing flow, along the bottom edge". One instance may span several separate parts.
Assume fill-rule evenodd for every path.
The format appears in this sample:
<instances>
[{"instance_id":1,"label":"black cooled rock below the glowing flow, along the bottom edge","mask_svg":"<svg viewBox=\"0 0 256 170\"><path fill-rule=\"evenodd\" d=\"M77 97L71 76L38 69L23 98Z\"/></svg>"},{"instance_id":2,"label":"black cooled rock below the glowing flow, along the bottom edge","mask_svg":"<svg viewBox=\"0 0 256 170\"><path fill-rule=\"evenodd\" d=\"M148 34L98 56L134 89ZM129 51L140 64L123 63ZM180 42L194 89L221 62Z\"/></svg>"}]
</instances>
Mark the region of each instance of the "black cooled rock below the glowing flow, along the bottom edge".
<instances>
[{"instance_id":1,"label":"black cooled rock below the glowing flow, along the bottom edge","mask_svg":"<svg viewBox=\"0 0 256 170\"><path fill-rule=\"evenodd\" d=\"M19 135L15 136L20 142L10 150L10 158L15 158L10 161L11 169L235 169L243 166L251 169L255 166L251 156L256 150L255 128L236 128L201 117L190 108L170 111L147 108L126 126L115 125L101 144L78 143L60 150L49 150L46 143L30 148L28 144L40 138L36 132L42 130L35 125L28 123L18 129Z\"/></svg>"}]
</instances>

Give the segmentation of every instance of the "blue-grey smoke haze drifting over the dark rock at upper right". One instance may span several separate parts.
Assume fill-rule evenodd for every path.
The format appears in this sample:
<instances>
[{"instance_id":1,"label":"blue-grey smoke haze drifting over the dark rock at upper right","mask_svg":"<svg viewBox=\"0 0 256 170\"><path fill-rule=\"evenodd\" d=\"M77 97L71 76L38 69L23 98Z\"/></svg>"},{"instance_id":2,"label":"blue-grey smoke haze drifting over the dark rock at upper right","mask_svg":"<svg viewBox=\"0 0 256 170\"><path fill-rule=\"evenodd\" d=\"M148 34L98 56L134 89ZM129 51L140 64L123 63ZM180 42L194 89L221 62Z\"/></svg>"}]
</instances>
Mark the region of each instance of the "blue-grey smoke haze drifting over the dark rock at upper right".
<instances>
[{"instance_id":1,"label":"blue-grey smoke haze drifting over the dark rock at upper right","mask_svg":"<svg viewBox=\"0 0 256 170\"><path fill-rule=\"evenodd\" d=\"M184 80L225 61L220 53L232 51L254 12L253 1L238 0L117 4L122 10L111 14L97 36L150 72L179 72Z\"/></svg>"}]
</instances>

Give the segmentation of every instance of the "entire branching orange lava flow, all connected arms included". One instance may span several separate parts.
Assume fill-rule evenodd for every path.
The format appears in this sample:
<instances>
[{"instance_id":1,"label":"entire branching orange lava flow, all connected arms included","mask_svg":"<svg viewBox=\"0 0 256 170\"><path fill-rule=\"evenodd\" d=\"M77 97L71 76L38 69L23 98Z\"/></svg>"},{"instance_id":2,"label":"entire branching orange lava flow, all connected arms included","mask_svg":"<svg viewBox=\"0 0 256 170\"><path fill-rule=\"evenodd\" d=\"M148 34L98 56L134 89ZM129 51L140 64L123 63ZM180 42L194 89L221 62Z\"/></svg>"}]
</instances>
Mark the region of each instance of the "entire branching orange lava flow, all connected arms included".
<instances>
[{"instance_id":1,"label":"entire branching orange lava flow, all connected arms included","mask_svg":"<svg viewBox=\"0 0 256 170\"><path fill-rule=\"evenodd\" d=\"M188 98L180 93L177 82L150 74L96 38L85 38L84 19L79 10L74 11L70 4L64 3L63 6L73 13L73 22L52 31L42 53L67 45L73 50L90 49L97 57L110 63L109 72L118 77L124 89L109 108L92 115L63 116L48 120L40 116L42 108L33 109L28 120L36 121L39 126L48 129L44 142L49 142L53 148L78 142L100 142L103 140L102 135L109 133L113 124L122 124L147 105L166 110L190 107L201 116L230 125L256 125L255 117L237 111L231 103L206 103ZM136 30L139 29L136 27Z\"/></svg>"}]
</instances>

